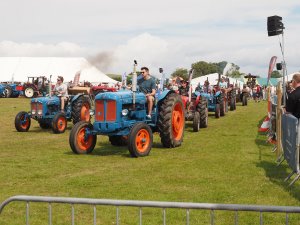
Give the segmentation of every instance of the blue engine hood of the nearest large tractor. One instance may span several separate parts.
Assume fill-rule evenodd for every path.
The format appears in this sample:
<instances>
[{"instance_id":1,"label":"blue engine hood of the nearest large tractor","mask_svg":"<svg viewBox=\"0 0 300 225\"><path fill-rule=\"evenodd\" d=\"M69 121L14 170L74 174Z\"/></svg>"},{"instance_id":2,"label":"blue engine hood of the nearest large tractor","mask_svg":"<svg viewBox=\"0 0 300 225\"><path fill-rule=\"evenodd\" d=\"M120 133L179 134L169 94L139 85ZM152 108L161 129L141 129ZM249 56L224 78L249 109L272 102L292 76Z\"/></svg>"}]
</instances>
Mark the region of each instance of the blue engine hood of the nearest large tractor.
<instances>
[{"instance_id":1,"label":"blue engine hood of the nearest large tractor","mask_svg":"<svg viewBox=\"0 0 300 225\"><path fill-rule=\"evenodd\" d=\"M141 92L135 93L135 102L137 104L145 104L146 96ZM122 104L133 103L133 92L132 91L119 91L119 92L106 92L100 93L96 96L95 100L115 100Z\"/></svg>"}]
</instances>

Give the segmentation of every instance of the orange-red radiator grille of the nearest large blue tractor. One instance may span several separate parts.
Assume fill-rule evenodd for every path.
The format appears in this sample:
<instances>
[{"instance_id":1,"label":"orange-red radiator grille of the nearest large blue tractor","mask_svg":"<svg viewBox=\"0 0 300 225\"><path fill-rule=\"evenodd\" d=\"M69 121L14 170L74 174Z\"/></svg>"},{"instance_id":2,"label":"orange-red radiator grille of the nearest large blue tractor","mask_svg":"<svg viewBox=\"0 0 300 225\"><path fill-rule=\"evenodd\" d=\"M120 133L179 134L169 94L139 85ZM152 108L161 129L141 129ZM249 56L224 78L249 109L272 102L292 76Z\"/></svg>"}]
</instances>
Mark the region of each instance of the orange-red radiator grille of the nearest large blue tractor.
<instances>
[{"instance_id":1,"label":"orange-red radiator grille of the nearest large blue tractor","mask_svg":"<svg viewBox=\"0 0 300 225\"><path fill-rule=\"evenodd\" d=\"M96 100L96 121L114 122L117 119L117 103L114 100Z\"/></svg>"}]
</instances>

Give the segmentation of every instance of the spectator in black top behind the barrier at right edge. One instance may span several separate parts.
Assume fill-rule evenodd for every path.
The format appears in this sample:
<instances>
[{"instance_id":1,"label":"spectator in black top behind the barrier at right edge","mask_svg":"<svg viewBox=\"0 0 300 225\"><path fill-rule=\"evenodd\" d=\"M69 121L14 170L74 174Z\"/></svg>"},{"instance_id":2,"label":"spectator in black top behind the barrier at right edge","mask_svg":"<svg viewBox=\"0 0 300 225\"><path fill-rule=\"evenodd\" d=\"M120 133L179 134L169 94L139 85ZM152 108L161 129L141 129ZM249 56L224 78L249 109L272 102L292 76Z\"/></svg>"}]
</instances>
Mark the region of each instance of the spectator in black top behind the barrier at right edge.
<instances>
[{"instance_id":1,"label":"spectator in black top behind the barrier at right edge","mask_svg":"<svg viewBox=\"0 0 300 225\"><path fill-rule=\"evenodd\" d=\"M300 73L296 73L292 79L292 85L295 89L287 95L286 111L300 118Z\"/></svg>"}]
</instances>

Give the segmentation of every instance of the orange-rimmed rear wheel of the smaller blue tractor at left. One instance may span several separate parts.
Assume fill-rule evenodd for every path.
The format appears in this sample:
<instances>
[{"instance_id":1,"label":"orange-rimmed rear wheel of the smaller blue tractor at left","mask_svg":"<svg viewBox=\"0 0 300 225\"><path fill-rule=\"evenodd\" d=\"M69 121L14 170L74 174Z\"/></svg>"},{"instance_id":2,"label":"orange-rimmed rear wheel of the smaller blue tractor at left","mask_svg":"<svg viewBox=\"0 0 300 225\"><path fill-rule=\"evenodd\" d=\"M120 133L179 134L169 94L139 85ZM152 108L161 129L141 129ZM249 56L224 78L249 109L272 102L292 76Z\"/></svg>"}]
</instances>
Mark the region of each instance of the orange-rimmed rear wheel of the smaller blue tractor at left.
<instances>
[{"instance_id":1,"label":"orange-rimmed rear wheel of the smaller blue tractor at left","mask_svg":"<svg viewBox=\"0 0 300 225\"><path fill-rule=\"evenodd\" d=\"M73 124L78 123L79 121L90 122L91 104L87 97L80 96L72 105L72 119Z\"/></svg>"}]
</instances>

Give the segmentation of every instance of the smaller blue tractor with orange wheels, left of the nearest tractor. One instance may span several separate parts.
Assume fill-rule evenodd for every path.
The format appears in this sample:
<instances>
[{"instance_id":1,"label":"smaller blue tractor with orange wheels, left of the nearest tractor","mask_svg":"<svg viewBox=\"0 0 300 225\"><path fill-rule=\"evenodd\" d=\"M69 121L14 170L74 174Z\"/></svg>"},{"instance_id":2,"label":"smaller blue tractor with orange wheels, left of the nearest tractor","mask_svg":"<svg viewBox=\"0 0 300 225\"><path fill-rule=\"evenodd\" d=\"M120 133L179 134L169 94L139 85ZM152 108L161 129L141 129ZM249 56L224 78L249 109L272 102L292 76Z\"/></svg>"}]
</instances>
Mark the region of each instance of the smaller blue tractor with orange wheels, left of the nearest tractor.
<instances>
[{"instance_id":1,"label":"smaller blue tractor with orange wheels, left of the nearest tractor","mask_svg":"<svg viewBox=\"0 0 300 225\"><path fill-rule=\"evenodd\" d=\"M27 132L31 119L38 121L42 129L52 128L53 133L63 133L67 121L90 121L91 101L86 94L69 96L64 112L60 110L60 97L47 96L31 99L30 112L21 111L15 117L15 128L19 132Z\"/></svg>"}]
</instances>

